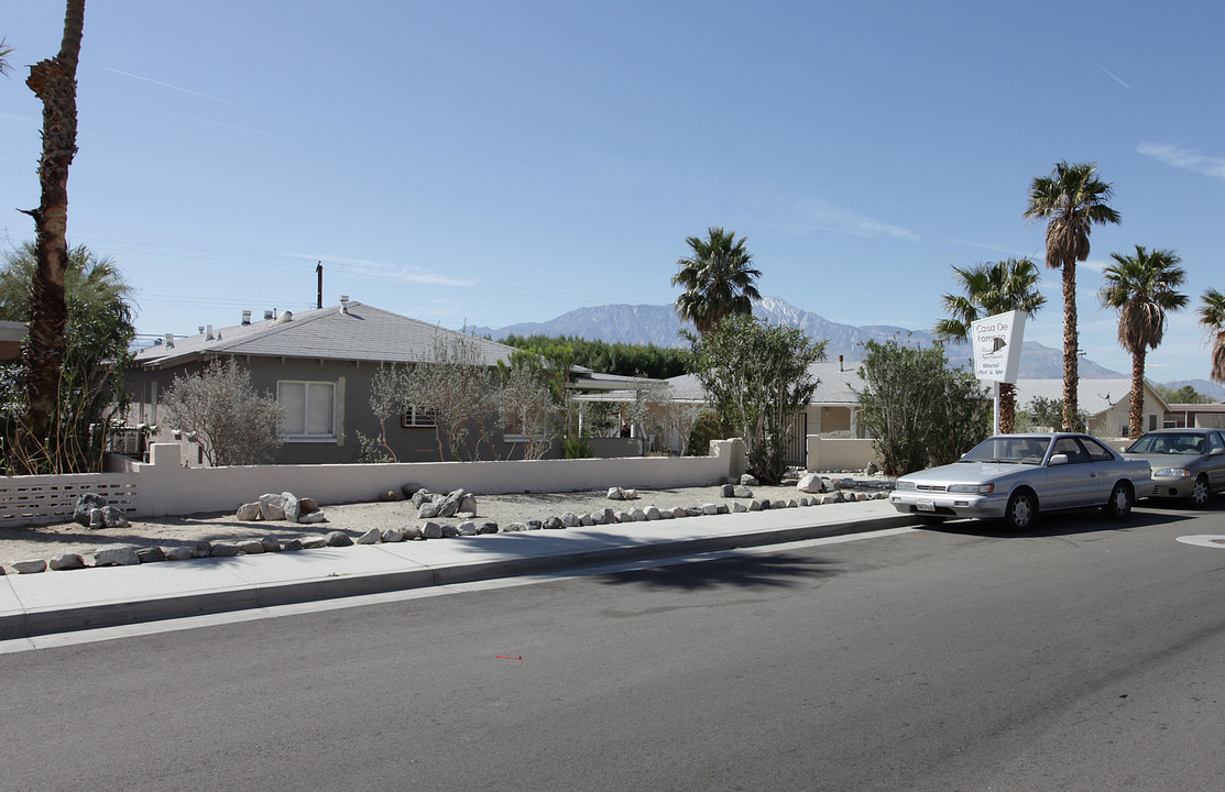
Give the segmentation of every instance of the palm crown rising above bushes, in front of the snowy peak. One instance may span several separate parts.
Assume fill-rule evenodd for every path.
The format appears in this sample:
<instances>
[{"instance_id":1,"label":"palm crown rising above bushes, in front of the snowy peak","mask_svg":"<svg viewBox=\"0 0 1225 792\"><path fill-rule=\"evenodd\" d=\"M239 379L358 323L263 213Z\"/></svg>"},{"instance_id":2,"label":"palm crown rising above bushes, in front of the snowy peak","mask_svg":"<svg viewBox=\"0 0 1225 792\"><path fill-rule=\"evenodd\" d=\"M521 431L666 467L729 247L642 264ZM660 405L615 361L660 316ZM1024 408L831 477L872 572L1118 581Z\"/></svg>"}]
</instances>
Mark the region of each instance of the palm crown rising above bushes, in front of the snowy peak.
<instances>
[{"instance_id":1,"label":"palm crown rising above bushes, in front of the snowy peak","mask_svg":"<svg viewBox=\"0 0 1225 792\"><path fill-rule=\"evenodd\" d=\"M707 239L690 236L685 241L693 253L677 260L680 272L673 275L673 285L685 289L676 297L681 319L693 322L704 335L725 316L752 313L753 300L761 300L755 282L762 273L752 267L745 237L737 240L735 231L712 226Z\"/></svg>"}]
</instances>

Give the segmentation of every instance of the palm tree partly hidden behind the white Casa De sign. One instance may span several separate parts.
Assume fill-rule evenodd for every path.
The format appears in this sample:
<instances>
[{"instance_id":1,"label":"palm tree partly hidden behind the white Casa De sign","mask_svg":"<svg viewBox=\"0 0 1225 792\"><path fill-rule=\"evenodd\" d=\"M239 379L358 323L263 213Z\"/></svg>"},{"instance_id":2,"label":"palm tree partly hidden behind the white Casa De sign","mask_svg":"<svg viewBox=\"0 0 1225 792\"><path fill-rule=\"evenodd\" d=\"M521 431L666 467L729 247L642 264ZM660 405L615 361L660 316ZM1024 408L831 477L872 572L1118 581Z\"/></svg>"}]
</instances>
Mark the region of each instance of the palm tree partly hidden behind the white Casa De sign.
<instances>
[{"instance_id":1,"label":"palm tree partly hidden behind the white Casa De sign","mask_svg":"<svg viewBox=\"0 0 1225 792\"><path fill-rule=\"evenodd\" d=\"M953 267L953 279L964 294L942 297L948 318L936 322L932 331L942 340L969 340L970 326L985 316L1024 311L1036 313L1046 296L1036 289L1038 266L1029 258L1008 258L962 269ZM1011 433L1017 417L1017 387L1000 383L1000 431Z\"/></svg>"}]
</instances>

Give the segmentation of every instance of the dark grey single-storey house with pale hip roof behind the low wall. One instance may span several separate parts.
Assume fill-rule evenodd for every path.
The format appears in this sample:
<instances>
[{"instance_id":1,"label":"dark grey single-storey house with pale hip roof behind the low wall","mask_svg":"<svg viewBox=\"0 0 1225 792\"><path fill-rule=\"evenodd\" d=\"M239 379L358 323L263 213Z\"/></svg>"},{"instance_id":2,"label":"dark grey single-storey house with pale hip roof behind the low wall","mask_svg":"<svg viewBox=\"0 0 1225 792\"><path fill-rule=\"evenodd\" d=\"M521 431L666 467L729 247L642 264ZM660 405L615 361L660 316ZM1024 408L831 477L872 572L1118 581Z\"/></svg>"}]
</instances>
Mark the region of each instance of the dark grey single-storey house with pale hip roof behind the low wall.
<instances>
[{"instance_id":1,"label":"dark grey single-storey house with pale hip roof behind the low wall","mask_svg":"<svg viewBox=\"0 0 1225 792\"><path fill-rule=\"evenodd\" d=\"M153 442L184 444L186 464L202 458L185 438L174 438L173 426L163 424L162 395L176 376L201 372L209 361L233 359L251 375L260 393L274 394L284 408L281 432L284 444L273 461L278 464L323 464L354 461L358 433L380 435L370 408L371 383L380 364L429 364L437 337L459 333L412 319L360 302L282 313L271 312L263 321L213 331L212 326L186 338L167 335L164 342L140 350L127 375L132 405L129 424L159 425ZM511 346L466 337L477 344L488 366L508 361ZM620 378L601 378L579 371L572 378L584 387L624 387ZM589 382L588 382L589 381ZM437 426L429 410L410 408L391 419L387 443L399 461L435 461L440 458ZM512 438L513 439L513 438ZM522 455L522 442L500 436L500 458ZM443 441L443 447L446 442ZM489 453L485 450L484 453ZM554 453L552 455L556 455Z\"/></svg>"}]
</instances>

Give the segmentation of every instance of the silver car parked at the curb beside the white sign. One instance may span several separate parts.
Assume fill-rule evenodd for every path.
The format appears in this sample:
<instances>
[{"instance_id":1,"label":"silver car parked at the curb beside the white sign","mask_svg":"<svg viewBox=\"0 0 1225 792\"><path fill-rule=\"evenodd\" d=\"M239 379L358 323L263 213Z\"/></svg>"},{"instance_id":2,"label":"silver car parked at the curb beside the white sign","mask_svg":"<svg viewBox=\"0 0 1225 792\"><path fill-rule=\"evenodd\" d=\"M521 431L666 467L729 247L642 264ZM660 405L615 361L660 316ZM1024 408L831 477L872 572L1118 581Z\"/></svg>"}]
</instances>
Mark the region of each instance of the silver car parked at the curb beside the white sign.
<instances>
[{"instance_id":1,"label":"silver car parked at the curb beside the white sign","mask_svg":"<svg viewBox=\"0 0 1225 792\"><path fill-rule=\"evenodd\" d=\"M1147 461L1089 435L1046 432L990 437L952 465L898 479L889 502L925 523L971 517L1024 530L1039 510L1101 507L1125 519L1153 491Z\"/></svg>"}]
</instances>

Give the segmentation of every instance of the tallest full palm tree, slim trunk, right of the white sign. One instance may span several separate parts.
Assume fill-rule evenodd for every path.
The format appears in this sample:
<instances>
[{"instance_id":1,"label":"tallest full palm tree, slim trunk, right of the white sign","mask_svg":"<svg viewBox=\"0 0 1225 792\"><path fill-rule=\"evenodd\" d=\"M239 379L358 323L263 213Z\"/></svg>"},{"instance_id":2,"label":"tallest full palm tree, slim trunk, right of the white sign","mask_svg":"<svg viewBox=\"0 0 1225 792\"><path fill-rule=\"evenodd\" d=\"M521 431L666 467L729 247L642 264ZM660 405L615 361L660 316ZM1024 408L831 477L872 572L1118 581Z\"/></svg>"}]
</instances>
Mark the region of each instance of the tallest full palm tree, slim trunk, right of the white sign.
<instances>
[{"instance_id":1,"label":"tallest full palm tree, slim trunk, right of the white sign","mask_svg":"<svg viewBox=\"0 0 1225 792\"><path fill-rule=\"evenodd\" d=\"M1107 201L1114 190L1098 179L1095 163L1056 163L1050 176L1029 186L1025 217L1046 219L1046 266L1063 271L1063 426L1077 424L1077 362L1079 342L1076 315L1076 266L1089 258L1089 231L1094 225L1120 223Z\"/></svg>"}]
</instances>

